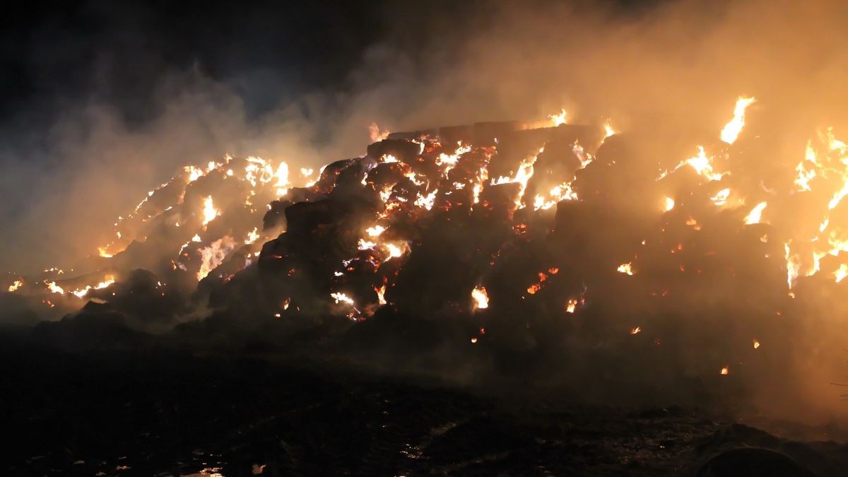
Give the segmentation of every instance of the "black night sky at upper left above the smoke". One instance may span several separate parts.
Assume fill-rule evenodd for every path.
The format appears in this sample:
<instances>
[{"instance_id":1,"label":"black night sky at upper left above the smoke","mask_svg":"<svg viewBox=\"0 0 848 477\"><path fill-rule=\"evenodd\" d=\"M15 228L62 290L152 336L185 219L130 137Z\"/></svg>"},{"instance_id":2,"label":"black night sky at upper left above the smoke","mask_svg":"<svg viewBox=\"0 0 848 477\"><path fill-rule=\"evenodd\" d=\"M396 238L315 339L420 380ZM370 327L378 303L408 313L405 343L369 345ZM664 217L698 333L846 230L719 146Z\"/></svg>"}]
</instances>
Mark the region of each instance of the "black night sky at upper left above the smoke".
<instances>
[{"instance_id":1,"label":"black night sky at upper left above the smoke","mask_svg":"<svg viewBox=\"0 0 848 477\"><path fill-rule=\"evenodd\" d=\"M98 95L143 121L156 113L147 97L161 76L192 67L237 85L261 112L287 94L343 88L381 36L382 11L374 0L32 4L0 20L0 117L50 115L56 101Z\"/></svg>"}]
</instances>

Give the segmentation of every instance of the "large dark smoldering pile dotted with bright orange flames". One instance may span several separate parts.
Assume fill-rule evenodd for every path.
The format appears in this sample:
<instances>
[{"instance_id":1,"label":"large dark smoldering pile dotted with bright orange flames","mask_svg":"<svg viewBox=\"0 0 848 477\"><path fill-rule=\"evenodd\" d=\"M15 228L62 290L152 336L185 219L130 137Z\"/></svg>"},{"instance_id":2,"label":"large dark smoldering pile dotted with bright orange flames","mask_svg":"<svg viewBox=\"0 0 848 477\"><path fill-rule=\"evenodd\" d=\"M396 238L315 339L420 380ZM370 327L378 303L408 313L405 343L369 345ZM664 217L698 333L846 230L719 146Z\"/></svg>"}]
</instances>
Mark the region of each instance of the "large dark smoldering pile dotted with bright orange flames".
<instances>
[{"instance_id":1,"label":"large dark smoldering pile dotted with bright orange flames","mask_svg":"<svg viewBox=\"0 0 848 477\"><path fill-rule=\"evenodd\" d=\"M81 311L36 328L74 346L85 340L72 323L120 323L166 332L145 340L589 399L628 386L646 400L769 389L806 351L798 317L839 293L844 266L835 250L812 255L821 273L793 268L795 229L762 220L759 198L777 194L763 181L778 180L754 166L767 137L735 143L741 128L682 162L609 126L393 133L304 187L284 164L227 158L152 191L119 222L126 250L89 259L81 278L13 276L4 300L84 290Z\"/></svg>"}]
</instances>

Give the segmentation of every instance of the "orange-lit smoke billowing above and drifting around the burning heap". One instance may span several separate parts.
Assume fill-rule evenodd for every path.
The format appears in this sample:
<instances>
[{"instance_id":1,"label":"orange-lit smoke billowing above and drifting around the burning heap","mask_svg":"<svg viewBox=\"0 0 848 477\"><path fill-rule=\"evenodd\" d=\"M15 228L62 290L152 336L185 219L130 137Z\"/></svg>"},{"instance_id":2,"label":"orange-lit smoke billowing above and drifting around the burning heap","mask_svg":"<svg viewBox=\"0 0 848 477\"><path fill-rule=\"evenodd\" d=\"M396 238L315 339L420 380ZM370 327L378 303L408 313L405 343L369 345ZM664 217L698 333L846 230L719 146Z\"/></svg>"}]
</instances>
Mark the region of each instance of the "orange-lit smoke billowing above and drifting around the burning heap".
<instances>
[{"instance_id":1,"label":"orange-lit smoke billowing above and drifting around the burning heap","mask_svg":"<svg viewBox=\"0 0 848 477\"><path fill-rule=\"evenodd\" d=\"M661 2L641 7L620 2L541 1L389 4L368 10L379 38L355 53L352 69L319 88L304 88L298 81L289 85L281 78L290 73L273 69L213 75L205 70L206 65L159 68L154 80L145 80L153 83L142 88L143 101L134 99L144 103L145 113L139 118L126 115L126 104L114 94L100 91L108 89L108 81L94 81L90 85L93 91L86 94L40 104L39 108L60 112L50 121L36 121L25 137L14 138L21 130L13 126L0 131L0 137L8 138L0 152L0 220L5 244L0 267L23 272L53 263L72 264L75 258L94 253L92 244L103 243L117 216L131 210L148 190L187 163L201 164L224 154L253 154L287 160L293 168L317 167L363 154L371 121L404 131L475 121L532 120L565 108L572 123L599 124L611 118L616 129L630 133L628 150L638 166L648 168L653 162L674 166L694 154L696 143L715 140L736 98L747 94L756 96L757 103L750 109L746 134L767 133L774 138L765 150L758 151L760 163L755 165L762 170L766 185L774 188L785 179L777 166L785 168L801 160L806 140L814 137L817 128L834 126L839 132L845 126L841 105L848 98L840 75L848 66L844 53L848 33L840 20L846 9L838 2L760 0ZM323 53L315 48L309 54L320 58ZM331 55L328 61L336 58ZM139 68L137 75L144 76L144 68ZM269 91L289 86L298 94ZM258 105L263 102L267 104ZM634 167L634 175L639 167ZM611 203L636 214L637 219L653 206L633 200L633 192L626 188L613 195ZM598 242L585 246L586 257L605 253L602 239L608 238L599 231L594 234ZM558 238L580 245L578 238L566 234ZM721 240L718 236L714 239ZM566 255L563 260L571 260L575 269L595 264L589 258L569 258L562 253ZM742 265L757 267L758 262L747 261L744 253L734 256ZM608 260L614 267L628 257ZM770 283L772 275L779 275L772 272L757 270L751 276ZM595 277L596 282L603 279ZM715 329L705 340L750 341L753 318L747 314L762 313L751 302L766 300L767 292L751 285L745 290L749 294L745 299L750 301L737 307L732 303L715 306L708 298L728 291L723 286L704 286L706 298L698 298L704 298L706 311L687 310L681 302L674 310L673 318L679 323L675 331L697 340L698 333L714 319L716 325L736 324ZM727 295L739 297L743 292ZM639 313L651 311L642 303L642 295L619 298L628 300L612 305L594 303L596 310L601 310L593 311L595 316L620 314L635 321ZM503 306L495 300L493 308ZM845 309L834 297L815 292L806 300L803 307L798 306L805 311L792 315L798 322L781 321L775 336L758 337L768 353L773 352L767 351L769 338L787 347L781 350L783 357L767 355L765 363L785 368L773 369L762 380L763 390L754 393L756 409L803 418L807 416L801 415L799 403L815 401L805 409L810 418L844 417L838 390L829 383L840 379L845 336L834 330L840 328L838 317L845 316ZM707 312L722 307L727 317L718 319ZM544 315L543 311L539 314ZM683 321L686 319L692 323ZM369 336L376 333L375 327L364 324L349 340L391 339L388 334ZM668 326L659 320L656 324ZM562 331L559 325L551 328ZM529 332L509 329L516 333L507 337L514 341L505 348L514 351L531 346ZM575 336L585 337L578 331ZM590 330L595 337L602 331L608 330ZM466 330L443 332L465 334ZM793 340L778 333L793 333ZM596 369L581 360L593 357L600 361L601 351L611 345L604 343L603 350L596 351L580 349L594 342L568 339L565 343L571 356L550 373L561 373L563 380L572 384L585 383L581 392L601 400L615 383L593 381ZM552 343L545 345L555 348ZM395 349L387 352L399 353ZM444 361L438 363L445 368L453 364L449 357L454 356L441 351L427 355ZM410 368L432 365L421 356L407 357L408 361L400 361ZM559 357L552 353L551 365ZM680 349L676 357L680 368L692 373L703 367L715 368L715 356ZM510 365L502 356L483 361L456 366L456 379L471 380L481 369L494 374ZM639 363L647 365L649 361ZM622 372L616 371L610 376ZM647 368L633 373L644 379L652 377ZM781 373L785 373L785 389L776 379ZM672 377L653 378L679 384ZM746 387L756 389L758 377L750 379ZM579 388L570 387L576 392ZM777 395L785 399L778 403L773 399ZM646 401L655 398L660 399L650 396Z\"/></svg>"}]
</instances>

